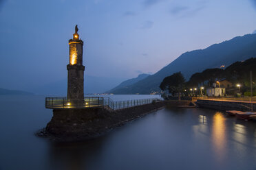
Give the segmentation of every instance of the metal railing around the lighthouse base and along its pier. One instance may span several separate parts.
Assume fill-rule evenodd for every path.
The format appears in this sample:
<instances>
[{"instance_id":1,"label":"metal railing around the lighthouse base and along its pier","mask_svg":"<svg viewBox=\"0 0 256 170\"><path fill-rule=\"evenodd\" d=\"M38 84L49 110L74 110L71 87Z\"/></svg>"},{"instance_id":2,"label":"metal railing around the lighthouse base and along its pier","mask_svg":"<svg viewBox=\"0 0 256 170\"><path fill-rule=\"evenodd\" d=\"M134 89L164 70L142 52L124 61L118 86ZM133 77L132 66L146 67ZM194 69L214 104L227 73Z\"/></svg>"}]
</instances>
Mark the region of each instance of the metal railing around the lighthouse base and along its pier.
<instances>
[{"instance_id":1,"label":"metal railing around the lighthouse base and along its pier","mask_svg":"<svg viewBox=\"0 0 256 170\"><path fill-rule=\"evenodd\" d=\"M67 97L46 97L45 108L66 109L66 108L95 108L107 107L113 110L151 104L159 98L134 99L127 101L113 101L109 97L84 97L83 101L69 101Z\"/></svg>"}]
</instances>

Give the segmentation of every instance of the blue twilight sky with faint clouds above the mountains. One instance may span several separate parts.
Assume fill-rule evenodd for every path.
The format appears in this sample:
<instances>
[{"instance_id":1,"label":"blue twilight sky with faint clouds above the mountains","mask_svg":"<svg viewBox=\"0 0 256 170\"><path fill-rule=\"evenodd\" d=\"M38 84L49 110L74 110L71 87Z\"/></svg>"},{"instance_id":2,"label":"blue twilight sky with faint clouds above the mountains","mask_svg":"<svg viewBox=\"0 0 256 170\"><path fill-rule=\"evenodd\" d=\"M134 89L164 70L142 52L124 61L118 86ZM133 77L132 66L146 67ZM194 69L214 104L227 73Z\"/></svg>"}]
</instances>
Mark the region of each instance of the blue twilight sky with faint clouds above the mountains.
<instances>
[{"instance_id":1,"label":"blue twilight sky with faint clouds above the mountains","mask_svg":"<svg viewBox=\"0 0 256 170\"><path fill-rule=\"evenodd\" d=\"M85 74L156 73L180 54L256 29L255 0L0 0L0 87L67 77L78 24Z\"/></svg>"}]
</instances>

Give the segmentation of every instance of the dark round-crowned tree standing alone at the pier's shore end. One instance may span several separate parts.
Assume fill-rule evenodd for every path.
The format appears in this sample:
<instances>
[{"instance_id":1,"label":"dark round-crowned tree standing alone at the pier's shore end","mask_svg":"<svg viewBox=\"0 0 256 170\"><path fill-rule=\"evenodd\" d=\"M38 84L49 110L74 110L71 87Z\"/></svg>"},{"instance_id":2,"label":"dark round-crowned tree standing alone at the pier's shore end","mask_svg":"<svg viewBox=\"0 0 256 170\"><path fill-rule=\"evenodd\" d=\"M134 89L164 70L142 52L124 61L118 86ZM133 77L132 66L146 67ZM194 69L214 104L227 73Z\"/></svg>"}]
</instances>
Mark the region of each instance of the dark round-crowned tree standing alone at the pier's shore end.
<instances>
[{"instance_id":1,"label":"dark round-crowned tree standing alone at the pier's shore end","mask_svg":"<svg viewBox=\"0 0 256 170\"><path fill-rule=\"evenodd\" d=\"M160 88L162 90L169 90L169 93L175 95L178 93L178 100L180 101L180 93L184 89L185 79L182 73L173 73L168 77L165 77L162 83L160 84Z\"/></svg>"}]
</instances>

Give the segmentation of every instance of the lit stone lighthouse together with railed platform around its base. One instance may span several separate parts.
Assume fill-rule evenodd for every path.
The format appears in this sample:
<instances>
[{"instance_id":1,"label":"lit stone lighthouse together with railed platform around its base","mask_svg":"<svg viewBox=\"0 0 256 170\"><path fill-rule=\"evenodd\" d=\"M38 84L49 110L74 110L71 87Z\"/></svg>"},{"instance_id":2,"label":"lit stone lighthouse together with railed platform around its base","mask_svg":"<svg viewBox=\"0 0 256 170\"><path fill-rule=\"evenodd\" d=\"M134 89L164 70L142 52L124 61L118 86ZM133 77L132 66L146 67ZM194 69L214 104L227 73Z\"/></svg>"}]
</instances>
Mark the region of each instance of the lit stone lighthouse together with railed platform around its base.
<instances>
[{"instance_id":1,"label":"lit stone lighthouse together with railed platform around its base","mask_svg":"<svg viewBox=\"0 0 256 170\"><path fill-rule=\"evenodd\" d=\"M104 97L84 97L83 40L79 39L78 27L69 40L70 55L67 64L67 97L46 97L45 108L51 109L86 109L103 107L114 108L114 102Z\"/></svg>"}]
</instances>

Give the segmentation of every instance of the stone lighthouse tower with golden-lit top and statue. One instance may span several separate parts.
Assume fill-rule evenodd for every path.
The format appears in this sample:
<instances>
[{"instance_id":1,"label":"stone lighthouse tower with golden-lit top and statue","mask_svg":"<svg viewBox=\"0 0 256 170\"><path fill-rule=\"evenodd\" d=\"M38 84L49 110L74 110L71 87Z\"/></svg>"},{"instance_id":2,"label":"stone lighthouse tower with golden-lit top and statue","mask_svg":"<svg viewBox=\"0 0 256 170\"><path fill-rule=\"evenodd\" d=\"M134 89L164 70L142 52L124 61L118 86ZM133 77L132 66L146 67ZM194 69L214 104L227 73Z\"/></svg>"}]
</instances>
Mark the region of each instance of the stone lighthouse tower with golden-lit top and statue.
<instances>
[{"instance_id":1,"label":"stone lighthouse tower with golden-lit top and statue","mask_svg":"<svg viewBox=\"0 0 256 170\"><path fill-rule=\"evenodd\" d=\"M73 39L69 40L70 64L67 64L67 100L71 105L84 104L83 95L83 40L79 39L78 27L75 27Z\"/></svg>"}]
</instances>

